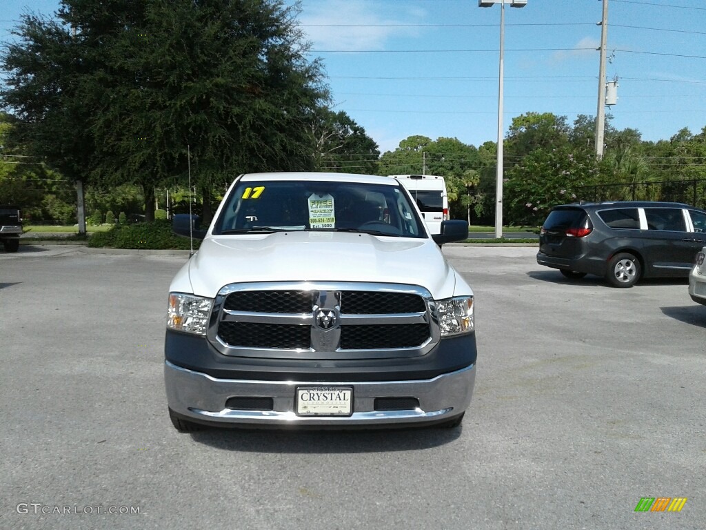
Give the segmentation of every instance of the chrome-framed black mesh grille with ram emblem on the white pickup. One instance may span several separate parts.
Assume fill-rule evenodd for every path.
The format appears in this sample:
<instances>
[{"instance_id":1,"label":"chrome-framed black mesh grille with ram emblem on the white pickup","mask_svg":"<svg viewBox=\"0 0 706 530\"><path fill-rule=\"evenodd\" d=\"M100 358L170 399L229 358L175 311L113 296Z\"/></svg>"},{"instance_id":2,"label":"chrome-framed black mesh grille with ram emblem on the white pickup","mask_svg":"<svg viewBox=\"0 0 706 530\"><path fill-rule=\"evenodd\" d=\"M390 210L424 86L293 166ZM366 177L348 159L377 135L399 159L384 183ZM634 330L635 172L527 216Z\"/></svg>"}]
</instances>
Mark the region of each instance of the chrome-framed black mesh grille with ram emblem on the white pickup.
<instances>
[{"instance_id":1,"label":"chrome-framed black mesh grille with ram emblem on the white pickup","mask_svg":"<svg viewBox=\"0 0 706 530\"><path fill-rule=\"evenodd\" d=\"M236 293L237 300L228 300L229 295ZM238 296L238 293L245 293ZM366 295L369 293L369 296ZM276 306L265 306L276 302L282 295L288 302L289 309L296 307L298 312L274 312ZM354 300L347 303L349 300ZM365 303L365 298L369 302ZM304 312L301 303L292 305L291 300L311 300L311 307ZM257 311L247 311L243 300L252 302ZM380 301L383 300L381 303ZM395 300L400 300L403 312L393 312ZM249 302L248 302L249 303ZM377 313L346 313L349 311L370 310L378 307ZM239 307L241 310L227 309ZM221 324L225 324L223 329ZM248 333L239 334L239 340L251 341L250 345L232 345L226 338L231 330L243 329ZM302 338L301 330L289 329L287 326L306 326L309 329L309 341ZM380 329L377 327L380 326ZM267 331L265 338L248 339L253 336L252 330ZM278 333L278 329L282 333ZM428 331L426 331L428 330ZM410 333L407 333L409 331ZM393 336L390 337L389 333ZM400 341L395 344L395 333ZM410 335L411 334L411 335ZM224 336L226 338L224 338ZM347 360L347 359L383 359L400 357L417 357L429 353L441 340L441 330L438 324L436 304L431 293L419 285L398 283L357 283L357 282L258 282L231 283L225 285L215 297L213 312L206 333L210 343L224 355L237 357L276 358L276 359L311 359L311 360ZM282 343L299 343L299 347L279 347L270 341L277 341L281 336ZM383 339L384 338L384 339ZM421 342L420 342L421 341ZM308 344L304 343L308 342ZM376 343L381 343L381 347ZM412 343L414 345L410 345ZM271 346L270 346L271 344ZM365 347L361 347L364 345ZM345 347L343 347L345 346Z\"/></svg>"}]
</instances>

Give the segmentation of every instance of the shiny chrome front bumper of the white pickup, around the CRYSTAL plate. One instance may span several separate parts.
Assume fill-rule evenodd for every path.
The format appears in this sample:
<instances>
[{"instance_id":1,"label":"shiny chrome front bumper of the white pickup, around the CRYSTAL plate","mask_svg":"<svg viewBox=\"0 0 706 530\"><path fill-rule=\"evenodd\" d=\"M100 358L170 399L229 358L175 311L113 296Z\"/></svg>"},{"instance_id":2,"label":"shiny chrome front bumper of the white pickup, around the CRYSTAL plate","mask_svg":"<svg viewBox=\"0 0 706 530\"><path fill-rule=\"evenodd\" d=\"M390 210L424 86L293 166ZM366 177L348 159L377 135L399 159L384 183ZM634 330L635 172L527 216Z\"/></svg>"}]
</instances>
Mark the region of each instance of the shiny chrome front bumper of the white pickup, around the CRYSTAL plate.
<instances>
[{"instance_id":1,"label":"shiny chrome front bumper of the white pickup, around the CRYSTAL plate","mask_svg":"<svg viewBox=\"0 0 706 530\"><path fill-rule=\"evenodd\" d=\"M454 418L469 406L475 381L475 365L414 381L250 381L215 379L201 372L164 362L167 402L174 412L204 423L245 425L401 425ZM297 387L353 387L352 416L297 416L294 394ZM242 411L226 408L232 397L268 397L271 411ZM402 411L376 411L378 397L414 397L419 408Z\"/></svg>"}]
</instances>

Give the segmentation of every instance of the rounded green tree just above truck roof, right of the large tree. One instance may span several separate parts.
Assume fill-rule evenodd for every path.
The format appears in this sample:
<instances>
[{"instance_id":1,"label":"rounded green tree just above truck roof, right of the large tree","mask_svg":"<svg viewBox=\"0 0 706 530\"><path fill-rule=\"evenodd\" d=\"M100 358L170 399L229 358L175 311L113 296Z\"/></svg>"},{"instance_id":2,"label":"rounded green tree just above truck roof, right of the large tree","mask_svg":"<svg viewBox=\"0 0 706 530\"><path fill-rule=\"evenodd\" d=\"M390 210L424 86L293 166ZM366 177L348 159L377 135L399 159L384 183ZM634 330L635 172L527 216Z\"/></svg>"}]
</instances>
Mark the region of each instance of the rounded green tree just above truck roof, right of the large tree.
<instances>
[{"instance_id":1,"label":"rounded green tree just above truck roof, right of the large tree","mask_svg":"<svg viewBox=\"0 0 706 530\"><path fill-rule=\"evenodd\" d=\"M321 107L310 126L317 170L377 173L378 144L348 114Z\"/></svg>"}]
</instances>

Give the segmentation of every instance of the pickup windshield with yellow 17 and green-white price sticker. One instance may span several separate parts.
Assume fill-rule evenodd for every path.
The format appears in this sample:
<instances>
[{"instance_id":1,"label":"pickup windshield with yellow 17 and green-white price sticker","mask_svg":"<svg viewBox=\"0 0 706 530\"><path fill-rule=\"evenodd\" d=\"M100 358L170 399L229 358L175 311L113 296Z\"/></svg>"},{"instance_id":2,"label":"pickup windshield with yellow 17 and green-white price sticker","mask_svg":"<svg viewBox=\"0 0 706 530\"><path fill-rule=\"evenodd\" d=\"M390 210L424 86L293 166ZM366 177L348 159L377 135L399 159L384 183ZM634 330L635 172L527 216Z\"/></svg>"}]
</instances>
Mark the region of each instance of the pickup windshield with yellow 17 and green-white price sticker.
<instances>
[{"instance_id":1,"label":"pickup windshield with yellow 17 and green-white price sticker","mask_svg":"<svg viewBox=\"0 0 706 530\"><path fill-rule=\"evenodd\" d=\"M426 237L421 227L399 185L248 180L234 187L213 233L324 230Z\"/></svg>"}]
</instances>

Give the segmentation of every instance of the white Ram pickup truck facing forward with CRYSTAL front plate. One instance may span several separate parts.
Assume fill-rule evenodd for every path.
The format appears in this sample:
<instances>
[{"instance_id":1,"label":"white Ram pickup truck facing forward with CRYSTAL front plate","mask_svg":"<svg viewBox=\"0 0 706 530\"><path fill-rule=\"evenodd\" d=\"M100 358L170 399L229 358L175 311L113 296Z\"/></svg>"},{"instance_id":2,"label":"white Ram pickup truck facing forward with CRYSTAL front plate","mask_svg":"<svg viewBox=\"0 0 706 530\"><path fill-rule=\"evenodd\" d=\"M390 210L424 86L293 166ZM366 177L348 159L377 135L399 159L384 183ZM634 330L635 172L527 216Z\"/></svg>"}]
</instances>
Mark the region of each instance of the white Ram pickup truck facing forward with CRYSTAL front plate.
<instances>
[{"instance_id":1,"label":"white Ram pickup truck facing forward with CRYSTAL front plate","mask_svg":"<svg viewBox=\"0 0 706 530\"><path fill-rule=\"evenodd\" d=\"M164 377L177 430L460 425L474 298L390 177L241 175L169 288Z\"/></svg>"}]
</instances>

